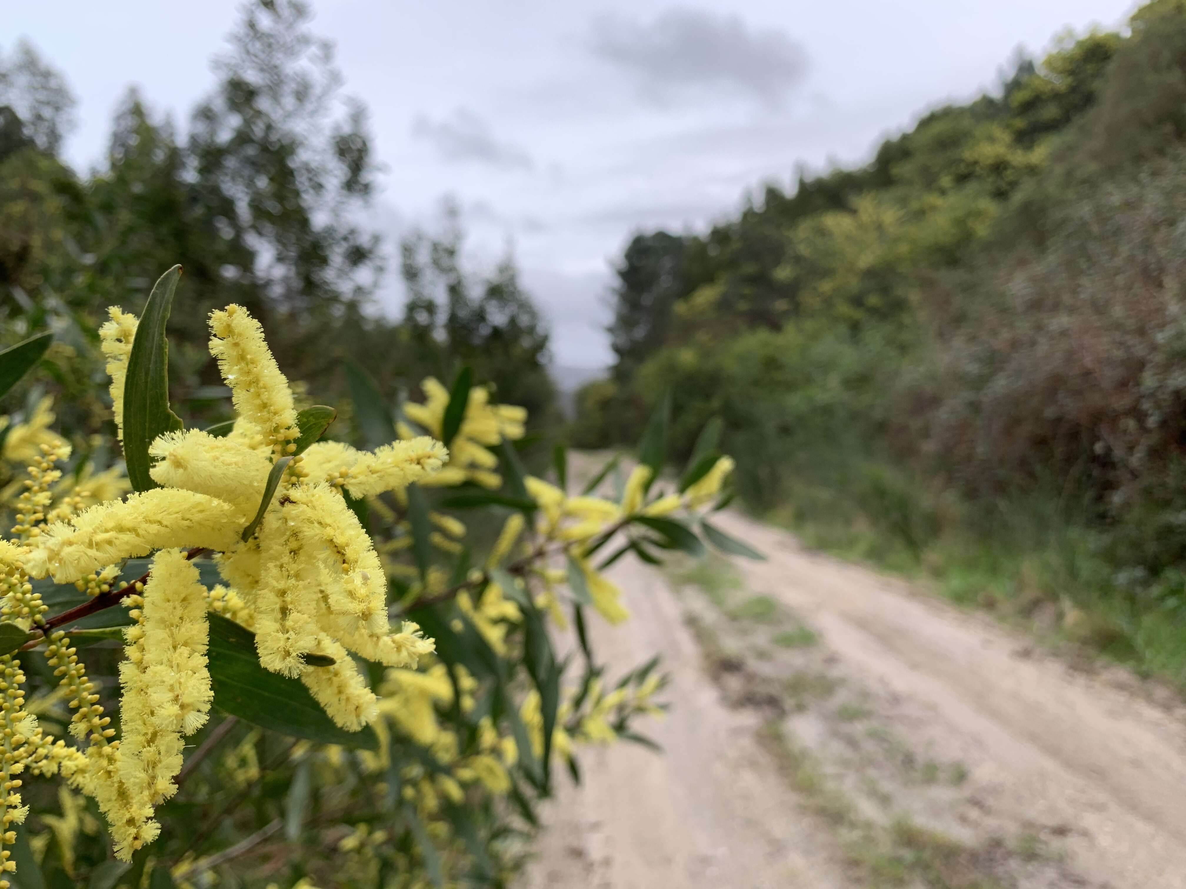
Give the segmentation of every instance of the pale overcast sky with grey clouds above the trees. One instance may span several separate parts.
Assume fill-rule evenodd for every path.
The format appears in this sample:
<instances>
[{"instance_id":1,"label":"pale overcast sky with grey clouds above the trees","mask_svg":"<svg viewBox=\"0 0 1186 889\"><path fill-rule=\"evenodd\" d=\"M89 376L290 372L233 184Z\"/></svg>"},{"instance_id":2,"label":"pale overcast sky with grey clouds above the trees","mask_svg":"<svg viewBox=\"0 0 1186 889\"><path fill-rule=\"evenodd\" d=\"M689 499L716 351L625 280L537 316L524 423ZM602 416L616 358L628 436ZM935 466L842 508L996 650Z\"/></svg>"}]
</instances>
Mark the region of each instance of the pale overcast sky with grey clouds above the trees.
<instances>
[{"instance_id":1,"label":"pale overcast sky with grey clouds above the trees","mask_svg":"<svg viewBox=\"0 0 1186 889\"><path fill-rule=\"evenodd\" d=\"M0 51L27 37L78 96L66 154L103 156L139 84L179 123L212 83L238 0L0 0ZM1010 53L1130 0L319 0L384 165L378 224L454 194L476 262L512 239L557 364L610 359L610 266L639 229L702 229L764 180L869 156L944 100L991 88ZM389 284L383 298L397 301Z\"/></svg>"}]
</instances>

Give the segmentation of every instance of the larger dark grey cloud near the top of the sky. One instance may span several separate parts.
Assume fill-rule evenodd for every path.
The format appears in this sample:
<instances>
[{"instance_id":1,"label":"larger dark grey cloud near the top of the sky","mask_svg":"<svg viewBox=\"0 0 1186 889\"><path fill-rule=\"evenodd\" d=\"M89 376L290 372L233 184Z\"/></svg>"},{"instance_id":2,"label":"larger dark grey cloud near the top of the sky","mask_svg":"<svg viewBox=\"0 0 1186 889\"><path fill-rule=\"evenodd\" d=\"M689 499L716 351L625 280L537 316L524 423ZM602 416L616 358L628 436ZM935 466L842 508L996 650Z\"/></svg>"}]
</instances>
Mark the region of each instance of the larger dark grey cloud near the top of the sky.
<instances>
[{"instance_id":1,"label":"larger dark grey cloud near the top of the sky","mask_svg":"<svg viewBox=\"0 0 1186 889\"><path fill-rule=\"evenodd\" d=\"M617 15L593 21L591 49L664 101L688 87L725 87L777 105L808 71L803 46L785 31L751 28L738 15L672 7L649 24Z\"/></svg>"}]
</instances>

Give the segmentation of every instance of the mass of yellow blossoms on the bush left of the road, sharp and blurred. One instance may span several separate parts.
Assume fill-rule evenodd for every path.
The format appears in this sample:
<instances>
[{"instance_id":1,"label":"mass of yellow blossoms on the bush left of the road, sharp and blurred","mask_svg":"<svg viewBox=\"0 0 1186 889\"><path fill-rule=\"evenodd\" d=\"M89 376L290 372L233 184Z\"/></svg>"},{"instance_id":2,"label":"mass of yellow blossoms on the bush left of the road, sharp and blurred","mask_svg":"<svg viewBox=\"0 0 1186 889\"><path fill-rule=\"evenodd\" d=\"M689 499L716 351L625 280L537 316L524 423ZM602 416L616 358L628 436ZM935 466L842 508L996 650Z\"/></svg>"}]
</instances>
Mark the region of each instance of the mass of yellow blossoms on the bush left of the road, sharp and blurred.
<instances>
[{"instance_id":1,"label":"mass of yellow blossoms on the bush left of the road, sharp and blurred","mask_svg":"<svg viewBox=\"0 0 1186 889\"><path fill-rule=\"evenodd\" d=\"M427 379L426 403L404 407L401 440L374 452L326 440L295 454L295 399L260 325L242 307L230 306L212 314L211 330L210 351L238 411L235 428L224 437L186 429L151 442L151 475L160 487L125 495L119 467L95 473L81 466L66 479L71 448L51 431L47 402L8 430L5 460L27 460L28 466L27 480L2 494L14 520L11 538L0 539L2 613L18 632L28 633L26 647L45 646L58 685L55 690L38 682L37 706L31 708L19 652L0 658L6 701L0 866L13 869L13 829L30 819L17 789L21 772L57 776L69 788L34 808L32 831L45 831L34 836L43 858L52 839L56 861L71 878L97 863L88 839L95 825L84 823L71 791L94 798L111 851L132 861L136 872L168 866L186 885L216 866L206 861L217 851L208 845L208 830L183 826L177 812L200 808L203 794L217 799L211 781L244 792L255 787L264 774L255 747L264 736L255 730L235 753L209 757L206 744L229 727L212 709L218 702L206 615L215 612L254 632L263 669L299 678L333 723L350 733L369 727L378 740L377 749L356 752L299 741L286 754L304 775L293 781L312 782L317 789L306 792L321 794L323 806L336 813L310 830L333 837L337 866L389 874L383 885L390 887L422 884L417 881L426 874L455 881L476 866L476 834L468 820L458 823L459 812L502 811L503 802L486 807L512 792L523 799L523 738L536 763L530 781L538 782L546 750L572 759L578 744L614 741L630 734L636 717L659 712L652 697L662 677L653 664L611 689L601 678L604 666L588 653L584 678L561 685L550 645L540 638L542 621L550 620L555 632L569 629L569 596L587 596L584 601L612 623L627 619L624 593L605 574L624 550L605 557L602 544L619 537L630 543L638 518L695 518L719 497L734 463L720 458L683 493L664 493L650 484L652 471L638 467L617 499L574 495L542 478L517 477L533 509L502 519L486 555L472 557L477 538L471 523L441 507L415 513L422 507L415 506L409 486L500 488L505 467L495 448L524 435L523 409L493 404L487 389L472 386L446 449L412 427L440 435L449 410L449 391ZM120 412L130 409L122 394L136 333L136 319L119 309L102 332L121 433ZM280 458L291 462L283 473L273 473ZM270 497L269 475L279 477ZM262 520L254 523L261 504ZM249 524L251 533L244 530ZM635 539L633 545L645 543ZM121 564L145 556L152 557L146 577L120 586ZM196 563L209 557L223 580L210 589ZM570 567L557 568L557 559ZM446 571L442 562L453 563L453 570ZM562 595L574 577L580 589ZM40 590L60 589L45 586L51 581L85 594L78 609L128 609L117 666L117 723L107 712L116 702L104 701L101 682L58 628L71 622L72 613L51 614L42 600ZM435 640L407 616L417 608L417 615L439 615L433 618L444 621L434 625L438 633L472 627L489 657L505 664L505 676L525 666L533 687L511 697L505 679L491 684L497 672L473 673L454 660L452 650L448 659L438 657ZM470 657L474 654L478 663L486 657ZM541 693L547 689L553 691ZM39 715L68 727L66 736L49 734ZM547 740L546 721L553 723ZM211 729L208 722L219 724ZM206 738L199 754L193 754L195 735ZM206 760L196 798L189 784L181 785L191 755ZM359 776L363 784L356 785ZM394 827L355 818L372 807L366 786L388 800L387 811L398 821ZM540 784L534 792L543 791L546 784ZM161 807L178 794L185 798L183 810ZM229 817L246 818L240 812L250 811L246 805ZM334 832L340 824L352 825L344 839ZM482 857L502 856L498 866L511 866L514 856L496 839L500 829L490 823L485 831ZM310 872L289 885L336 878L324 856L293 855ZM0 889L6 887L0 881Z\"/></svg>"}]
</instances>

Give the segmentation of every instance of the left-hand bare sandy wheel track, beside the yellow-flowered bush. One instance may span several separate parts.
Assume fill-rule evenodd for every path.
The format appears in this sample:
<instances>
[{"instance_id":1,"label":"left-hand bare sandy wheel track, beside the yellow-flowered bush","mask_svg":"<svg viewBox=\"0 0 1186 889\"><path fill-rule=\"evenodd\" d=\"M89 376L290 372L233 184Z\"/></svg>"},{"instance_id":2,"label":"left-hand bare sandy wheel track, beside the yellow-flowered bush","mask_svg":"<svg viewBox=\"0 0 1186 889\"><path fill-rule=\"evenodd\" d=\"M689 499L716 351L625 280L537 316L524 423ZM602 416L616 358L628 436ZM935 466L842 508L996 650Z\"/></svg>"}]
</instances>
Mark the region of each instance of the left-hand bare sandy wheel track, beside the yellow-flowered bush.
<instances>
[{"instance_id":1,"label":"left-hand bare sandy wheel track, beside the yellow-flowered bush","mask_svg":"<svg viewBox=\"0 0 1186 889\"><path fill-rule=\"evenodd\" d=\"M544 810L531 889L830 889L847 883L831 842L770 773L751 715L729 710L704 676L665 580L618 563L632 619L593 629L598 659L621 670L663 654L671 711L639 727L663 746L586 750Z\"/></svg>"}]
</instances>

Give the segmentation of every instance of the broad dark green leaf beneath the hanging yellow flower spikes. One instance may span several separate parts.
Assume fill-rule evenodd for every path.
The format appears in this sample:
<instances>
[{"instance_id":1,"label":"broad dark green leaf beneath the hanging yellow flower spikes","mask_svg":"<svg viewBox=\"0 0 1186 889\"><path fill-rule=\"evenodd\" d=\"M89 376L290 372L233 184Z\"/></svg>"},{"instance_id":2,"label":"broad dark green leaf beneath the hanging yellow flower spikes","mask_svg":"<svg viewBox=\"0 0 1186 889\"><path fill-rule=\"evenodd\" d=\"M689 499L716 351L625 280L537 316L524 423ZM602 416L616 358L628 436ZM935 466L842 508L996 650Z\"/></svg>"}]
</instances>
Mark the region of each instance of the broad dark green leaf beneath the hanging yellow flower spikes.
<instances>
[{"instance_id":1,"label":"broad dark green leaf beneath the hanging yellow flower spikes","mask_svg":"<svg viewBox=\"0 0 1186 889\"><path fill-rule=\"evenodd\" d=\"M378 749L368 727L346 731L333 723L300 679L260 666L255 633L210 613L210 684L215 704L224 712L270 731L321 744Z\"/></svg>"}]
</instances>

